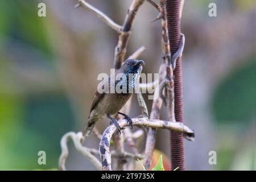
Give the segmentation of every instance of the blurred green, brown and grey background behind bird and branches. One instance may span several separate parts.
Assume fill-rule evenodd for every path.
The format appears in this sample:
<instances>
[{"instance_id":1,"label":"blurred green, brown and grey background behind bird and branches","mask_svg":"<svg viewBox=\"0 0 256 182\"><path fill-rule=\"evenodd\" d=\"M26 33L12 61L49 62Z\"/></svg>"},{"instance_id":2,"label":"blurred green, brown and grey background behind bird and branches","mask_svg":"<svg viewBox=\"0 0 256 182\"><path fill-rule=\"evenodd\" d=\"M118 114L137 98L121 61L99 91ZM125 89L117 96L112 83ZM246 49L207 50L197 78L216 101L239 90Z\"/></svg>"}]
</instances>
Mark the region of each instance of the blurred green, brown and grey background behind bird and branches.
<instances>
[{"instance_id":1,"label":"blurred green, brown and grey background behind bird and branches","mask_svg":"<svg viewBox=\"0 0 256 182\"><path fill-rule=\"evenodd\" d=\"M47 16L38 16L38 3ZM131 0L88 0L122 24ZM217 4L217 17L208 5ZM75 0L0 1L0 169L55 169L60 138L83 129L98 73L113 68L117 34ZM158 13L147 2L139 10L127 55L145 46L146 73L157 73L161 50ZM195 129L185 142L190 170L256 169L255 1L185 1L181 31L184 122ZM147 101L150 109L152 101ZM139 114L133 100L131 117ZM162 109L162 118L167 118ZM103 131L108 120L100 122ZM168 131L156 148L170 153ZM98 148L90 137L86 146ZM69 143L67 169L94 169ZM142 146L143 147L143 146ZM38 164L38 151L47 164ZM209 151L217 164L209 165Z\"/></svg>"}]
</instances>

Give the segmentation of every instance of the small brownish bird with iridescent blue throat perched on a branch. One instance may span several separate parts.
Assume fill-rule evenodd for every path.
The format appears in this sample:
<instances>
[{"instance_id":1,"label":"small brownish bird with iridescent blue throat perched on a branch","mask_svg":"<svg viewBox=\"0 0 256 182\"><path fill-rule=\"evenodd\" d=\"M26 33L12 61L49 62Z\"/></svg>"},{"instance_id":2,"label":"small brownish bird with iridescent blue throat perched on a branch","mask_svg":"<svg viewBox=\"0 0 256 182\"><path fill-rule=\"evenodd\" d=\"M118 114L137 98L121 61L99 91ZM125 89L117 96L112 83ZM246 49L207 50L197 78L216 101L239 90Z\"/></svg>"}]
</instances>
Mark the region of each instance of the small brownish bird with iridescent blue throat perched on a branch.
<instances>
[{"instance_id":1,"label":"small brownish bird with iridescent blue throat perched on a branch","mask_svg":"<svg viewBox=\"0 0 256 182\"><path fill-rule=\"evenodd\" d=\"M121 127L118 125L117 120L111 117L111 115L116 113L123 115L129 122L129 125L132 127L131 118L126 114L120 113L119 110L122 109L133 93L130 92L130 90L134 90L135 88L137 78L139 77L141 64L144 64L144 61L128 59L122 64L122 67L115 72L115 76L123 75L123 77L120 77L119 79L115 78L114 86L119 85L118 88L124 90L125 92L116 92L117 90L115 90L115 93L99 93L97 90L90 108L89 121L83 135L89 136L92 133L95 123L105 117L111 119L110 124L113 123L115 127L117 127L119 133L121 133ZM110 80L111 79L109 77L108 80L105 80L102 83L102 89L110 90Z\"/></svg>"}]
</instances>

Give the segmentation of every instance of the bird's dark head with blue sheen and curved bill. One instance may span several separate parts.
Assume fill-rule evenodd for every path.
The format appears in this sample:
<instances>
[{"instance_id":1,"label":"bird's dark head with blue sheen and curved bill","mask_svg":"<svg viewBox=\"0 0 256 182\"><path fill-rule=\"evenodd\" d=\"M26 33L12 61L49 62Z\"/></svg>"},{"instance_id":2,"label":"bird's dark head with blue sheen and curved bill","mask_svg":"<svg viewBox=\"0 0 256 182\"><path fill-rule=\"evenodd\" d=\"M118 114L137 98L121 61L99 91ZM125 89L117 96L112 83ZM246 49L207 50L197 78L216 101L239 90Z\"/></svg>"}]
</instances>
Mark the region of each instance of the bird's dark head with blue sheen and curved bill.
<instances>
[{"instance_id":1,"label":"bird's dark head with blue sheen and curved bill","mask_svg":"<svg viewBox=\"0 0 256 182\"><path fill-rule=\"evenodd\" d=\"M137 59L127 59L121 67L123 73L137 74L141 65L144 64L144 61Z\"/></svg>"}]
</instances>

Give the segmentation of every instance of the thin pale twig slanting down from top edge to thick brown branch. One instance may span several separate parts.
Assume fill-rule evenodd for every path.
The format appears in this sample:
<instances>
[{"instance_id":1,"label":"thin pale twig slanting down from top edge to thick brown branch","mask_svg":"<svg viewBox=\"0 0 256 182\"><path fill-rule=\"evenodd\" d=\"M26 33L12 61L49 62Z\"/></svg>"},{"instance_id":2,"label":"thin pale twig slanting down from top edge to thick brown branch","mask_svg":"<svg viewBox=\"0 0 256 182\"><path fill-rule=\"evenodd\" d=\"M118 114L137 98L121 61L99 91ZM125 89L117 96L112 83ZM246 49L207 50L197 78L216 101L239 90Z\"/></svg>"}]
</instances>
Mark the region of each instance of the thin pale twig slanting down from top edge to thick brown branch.
<instances>
[{"instance_id":1,"label":"thin pale twig slanting down from top edge to thick brown branch","mask_svg":"<svg viewBox=\"0 0 256 182\"><path fill-rule=\"evenodd\" d=\"M84 0L79 0L79 5L84 7L86 10L91 11L94 15L98 16L98 18L100 18L103 22L108 24L108 26L113 28L115 31L117 31L118 33L121 33L122 27L119 24L115 23L107 15L105 15L104 13L102 13L100 10L96 9L92 5L90 5L88 2L86 2Z\"/></svg>"}]
</instances>

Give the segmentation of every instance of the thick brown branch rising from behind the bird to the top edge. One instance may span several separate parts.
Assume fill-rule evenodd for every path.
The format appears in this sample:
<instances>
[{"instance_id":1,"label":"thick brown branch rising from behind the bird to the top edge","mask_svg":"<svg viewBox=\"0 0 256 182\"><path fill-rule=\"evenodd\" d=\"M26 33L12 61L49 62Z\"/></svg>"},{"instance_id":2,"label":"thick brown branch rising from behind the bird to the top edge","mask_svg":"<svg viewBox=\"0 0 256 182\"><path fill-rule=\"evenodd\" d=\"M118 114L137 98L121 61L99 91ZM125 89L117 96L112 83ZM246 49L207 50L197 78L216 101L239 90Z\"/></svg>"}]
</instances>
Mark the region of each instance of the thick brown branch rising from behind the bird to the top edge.
<instances>
[{"instance_id":1,"label":"thick brown branch rising from behind the bird to the top edge","mask_svg":"<svg viewBox=\"0 0 256 182\"><path fill-rule=\"evenodd\" d=\"M121 28L121 33L119 34L117 47L115 47L115 56L114 56L114 68L119 69L125 60L126 47L131 35L131 29L133 28L133 23L135 16L139 7L144 3L144 0L134 0L128 13L125 17L125 22Z\"/></svg>"}]
</instances>

